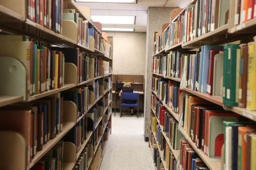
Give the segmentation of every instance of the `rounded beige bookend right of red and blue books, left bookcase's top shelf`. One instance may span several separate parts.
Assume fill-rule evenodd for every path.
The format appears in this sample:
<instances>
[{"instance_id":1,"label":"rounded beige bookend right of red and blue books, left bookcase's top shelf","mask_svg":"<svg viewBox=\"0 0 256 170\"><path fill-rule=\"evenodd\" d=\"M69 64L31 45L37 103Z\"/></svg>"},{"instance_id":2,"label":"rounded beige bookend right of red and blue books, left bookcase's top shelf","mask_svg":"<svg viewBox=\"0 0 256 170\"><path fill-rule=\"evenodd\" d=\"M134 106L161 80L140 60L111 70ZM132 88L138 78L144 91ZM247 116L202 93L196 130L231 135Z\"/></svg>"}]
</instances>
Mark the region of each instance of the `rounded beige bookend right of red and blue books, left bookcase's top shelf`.
<instances>
[{"instance_id":1,"label":"rounded beige bookend right of red and blue books, left bookcase's top shelf","mask_svg":"<svg viewBox=\"0 0 256 170\"><path fill-rule=\"evenodd\" d=\"M62 24L62 35L73 40L75 44L77 44L78 28L76 23L72 20L62 20Z\"/></svg>"}]
</instances>

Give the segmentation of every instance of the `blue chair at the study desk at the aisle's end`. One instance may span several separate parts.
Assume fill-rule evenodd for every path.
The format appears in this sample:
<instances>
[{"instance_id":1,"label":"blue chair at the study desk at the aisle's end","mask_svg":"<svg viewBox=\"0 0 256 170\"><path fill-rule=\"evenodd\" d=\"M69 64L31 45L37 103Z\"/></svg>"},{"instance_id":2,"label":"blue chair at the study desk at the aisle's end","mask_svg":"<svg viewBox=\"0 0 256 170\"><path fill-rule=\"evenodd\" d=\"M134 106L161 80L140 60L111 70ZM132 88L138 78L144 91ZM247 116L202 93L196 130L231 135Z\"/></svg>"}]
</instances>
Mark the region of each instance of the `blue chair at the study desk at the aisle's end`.
<instances>
[{"instance_id":1,"label":"blue chair at the study desk at the aisle's end","mask_svg":"<svg viewBox=\"0 0 256 170\"><path fill-rule=\"evenodd\" d=\"M134 104L127 104L125 100L135 100ZM139 93L121 93L121 112L120 117L122 117L122 108L137 108L137 118L139 118Z\"/></svg>"}]
</instances>

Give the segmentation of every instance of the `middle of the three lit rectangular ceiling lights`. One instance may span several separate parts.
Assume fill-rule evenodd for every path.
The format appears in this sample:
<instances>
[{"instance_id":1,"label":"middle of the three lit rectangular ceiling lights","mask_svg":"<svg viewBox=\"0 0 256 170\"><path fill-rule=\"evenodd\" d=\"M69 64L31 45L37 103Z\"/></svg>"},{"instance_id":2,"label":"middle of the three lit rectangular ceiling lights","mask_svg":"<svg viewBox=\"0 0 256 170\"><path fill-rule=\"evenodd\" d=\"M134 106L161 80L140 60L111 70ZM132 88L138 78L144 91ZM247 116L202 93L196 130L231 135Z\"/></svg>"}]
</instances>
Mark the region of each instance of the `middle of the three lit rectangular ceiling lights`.
<instances>
[{"instance_id":1,"label":"middle of the three lit rectangular ceiling lights","mask_svg":"<svg viewBox=\"0 0 256 170\"><path fill-rule=\"evenodd\" d=\"M91 15L91 19L102 24L134 24L135 16L99 16Z\"/></svg>"}]
</instances>

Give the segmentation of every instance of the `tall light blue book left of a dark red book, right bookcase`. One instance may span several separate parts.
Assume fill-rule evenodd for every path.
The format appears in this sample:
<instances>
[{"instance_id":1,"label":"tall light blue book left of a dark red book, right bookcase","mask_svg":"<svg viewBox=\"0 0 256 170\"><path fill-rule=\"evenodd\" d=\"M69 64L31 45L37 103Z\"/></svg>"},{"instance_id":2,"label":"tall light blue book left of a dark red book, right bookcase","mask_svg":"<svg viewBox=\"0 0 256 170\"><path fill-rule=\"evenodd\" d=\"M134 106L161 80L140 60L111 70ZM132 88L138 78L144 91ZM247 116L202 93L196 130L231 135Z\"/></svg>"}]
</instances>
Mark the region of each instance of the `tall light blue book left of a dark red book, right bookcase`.
<instances>
[{"instance_id":1,"label":"tall light blue book left of a dark red book, right bookcase","mask_svg":"<svg viewBox=\"0 0 256 170\"><path fill-rule=\"evenodd\" d=\"M209 75L209 58L210 50L223 50L223 46L204 45L202 49L202 67L201 67L201 93L207 93L208 75Z\"/></svg>"}]
</instances>

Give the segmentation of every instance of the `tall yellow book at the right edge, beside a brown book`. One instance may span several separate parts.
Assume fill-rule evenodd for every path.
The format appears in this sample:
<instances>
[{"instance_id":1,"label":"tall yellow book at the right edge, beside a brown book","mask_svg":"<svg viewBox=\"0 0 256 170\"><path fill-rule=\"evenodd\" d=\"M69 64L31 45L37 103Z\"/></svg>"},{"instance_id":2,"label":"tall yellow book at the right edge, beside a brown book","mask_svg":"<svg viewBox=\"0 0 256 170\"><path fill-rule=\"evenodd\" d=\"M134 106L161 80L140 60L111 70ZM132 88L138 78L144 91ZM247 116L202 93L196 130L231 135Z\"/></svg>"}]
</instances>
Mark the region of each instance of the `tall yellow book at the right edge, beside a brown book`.
<instances>
[{"instance_id":1,"label":"tall yellow book at the right edge, beside a brown book","mask_svg":"<svg viewBox=\"0 0 256 170\"><path fill-rule=\"evenodd\" d=\"M249 110L256 110L256 54L254 43L248 43L247 109Z\"/></svg>"}]
</instances>

